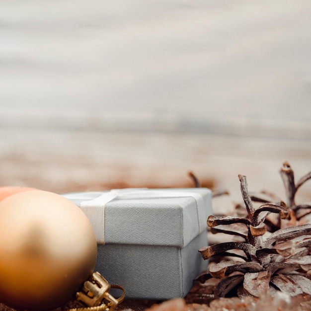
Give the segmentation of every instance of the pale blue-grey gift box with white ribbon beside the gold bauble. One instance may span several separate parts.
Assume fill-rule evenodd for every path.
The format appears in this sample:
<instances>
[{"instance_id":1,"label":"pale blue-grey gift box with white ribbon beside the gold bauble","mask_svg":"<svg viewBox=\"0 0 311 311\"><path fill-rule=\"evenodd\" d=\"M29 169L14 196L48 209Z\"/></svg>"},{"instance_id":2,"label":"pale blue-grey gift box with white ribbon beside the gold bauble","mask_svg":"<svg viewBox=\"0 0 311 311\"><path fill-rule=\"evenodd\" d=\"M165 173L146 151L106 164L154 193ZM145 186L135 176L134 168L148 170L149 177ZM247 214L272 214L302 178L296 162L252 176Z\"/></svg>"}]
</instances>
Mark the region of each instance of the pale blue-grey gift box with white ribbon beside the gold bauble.
<instances>
[{"instance_id":1,"label":"pale blue-grey gift box with white ribbon beside the gold bauble","mask_svg":"<svg viewBox=\"0 0 311 311\"><path fill-rule=\"evenodd\" d=\"M122 285L127 298L184 297L207 269L198 249L207 246L211 190L130 188L63 196L93 226L95 271Z\"/></svg>"}]
</instances>

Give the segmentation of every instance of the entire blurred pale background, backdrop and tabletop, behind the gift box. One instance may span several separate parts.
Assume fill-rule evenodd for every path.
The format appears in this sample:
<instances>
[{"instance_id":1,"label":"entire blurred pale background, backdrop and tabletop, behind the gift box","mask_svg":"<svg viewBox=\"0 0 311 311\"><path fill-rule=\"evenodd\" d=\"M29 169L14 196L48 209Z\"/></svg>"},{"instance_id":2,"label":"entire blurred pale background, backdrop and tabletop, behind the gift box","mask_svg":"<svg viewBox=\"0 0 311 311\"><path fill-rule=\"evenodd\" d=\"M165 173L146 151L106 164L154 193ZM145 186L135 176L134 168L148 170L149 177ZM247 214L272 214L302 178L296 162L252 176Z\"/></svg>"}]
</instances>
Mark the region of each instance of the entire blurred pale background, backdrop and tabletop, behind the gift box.
<instances>
[{"instance_id":1,"label":"entire blurred pale background, backdrop and tabletop, behind the gift box","mask_svg":"<svg viewBox=\"0 0 311 311\"><path fill-rule=\"evenodd\" d=\"M238 173L282 197L283 161L311 170L310 16L310 0L1 0L0 185L193 186L192 170L232 201Z\"/></svg>"}]
</instances>

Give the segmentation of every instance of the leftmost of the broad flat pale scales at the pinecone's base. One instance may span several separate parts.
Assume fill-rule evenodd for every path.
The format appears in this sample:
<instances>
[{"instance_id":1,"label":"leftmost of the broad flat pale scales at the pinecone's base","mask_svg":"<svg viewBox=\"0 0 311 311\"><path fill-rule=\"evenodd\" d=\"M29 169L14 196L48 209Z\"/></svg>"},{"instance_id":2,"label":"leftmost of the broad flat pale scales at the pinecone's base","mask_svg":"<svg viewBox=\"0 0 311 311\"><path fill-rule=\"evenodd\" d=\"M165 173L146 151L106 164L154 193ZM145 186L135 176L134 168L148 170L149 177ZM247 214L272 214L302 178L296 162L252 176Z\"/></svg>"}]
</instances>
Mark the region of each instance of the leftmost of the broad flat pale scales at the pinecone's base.
<instances>
[{"instance_id":1,"label":"leftmost of the broad flat pale scales at the pinecone's base","mask_svg":"<svg viewBox=\"0 0 311 311\"><path fill-rule=\"evenodd\" d=\"M252 296L259 297L269 289L271 272L245 273L243 288Z\"/></svg>"}]
</instances>

